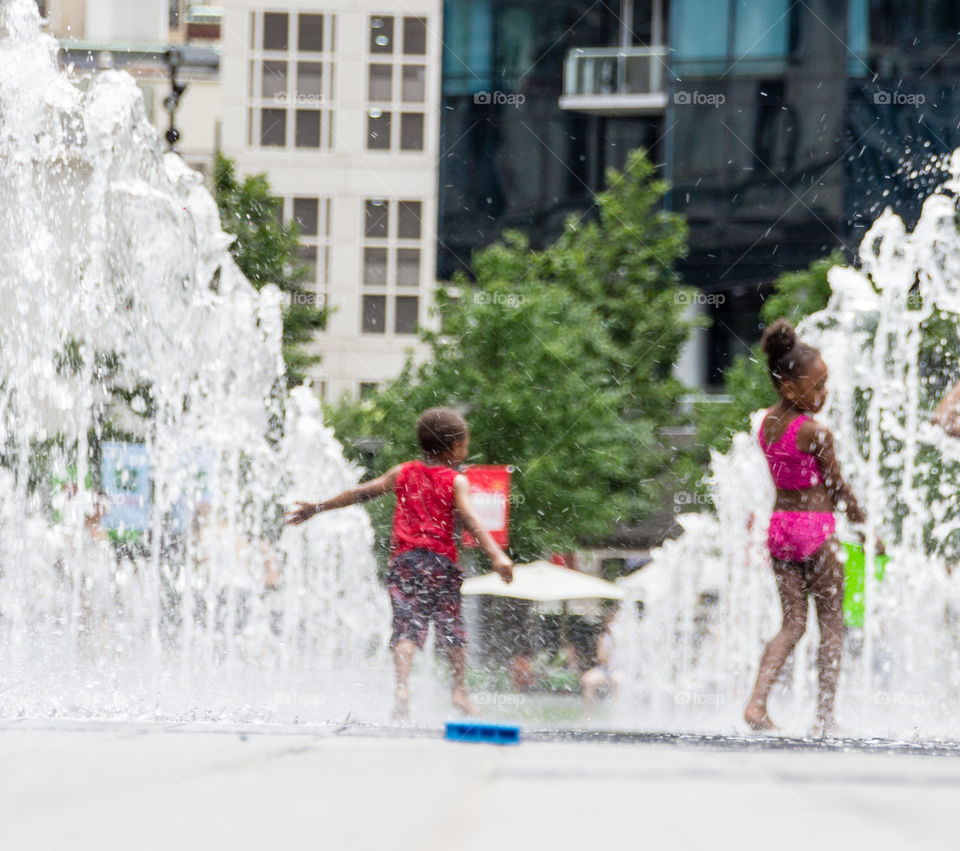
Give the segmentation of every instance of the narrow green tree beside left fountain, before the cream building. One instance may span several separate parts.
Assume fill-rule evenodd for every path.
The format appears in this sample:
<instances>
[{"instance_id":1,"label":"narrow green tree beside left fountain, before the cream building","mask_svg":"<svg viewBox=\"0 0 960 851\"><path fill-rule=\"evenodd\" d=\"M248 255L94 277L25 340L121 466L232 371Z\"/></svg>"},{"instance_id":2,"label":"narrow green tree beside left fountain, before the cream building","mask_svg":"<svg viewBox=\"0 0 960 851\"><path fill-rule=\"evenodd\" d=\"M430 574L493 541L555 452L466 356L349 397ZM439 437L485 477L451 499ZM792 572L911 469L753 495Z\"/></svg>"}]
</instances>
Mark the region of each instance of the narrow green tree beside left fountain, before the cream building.
<instances>
[{"instance_id":1,"label":"narrow green tree beside left fountain, before the cream building","mask_svg":"<svg viewBox=\"0 0 960 851\"><path fill-rule=\"evenodd\" d=\"M326 327L329 312L317 307L303 286L308 271L297 253L299 226L281 222L280 202L270 194L265 174L241 180L236 164L222 154L217 155L213 188L223 229L236 237L230 253L240 271L256 289L274 284L289 296L283 312L283 359L287 384L300 384L304 370L320 360L304 346Z\"/></svg>"}]
</instances>

